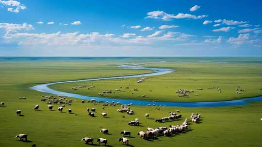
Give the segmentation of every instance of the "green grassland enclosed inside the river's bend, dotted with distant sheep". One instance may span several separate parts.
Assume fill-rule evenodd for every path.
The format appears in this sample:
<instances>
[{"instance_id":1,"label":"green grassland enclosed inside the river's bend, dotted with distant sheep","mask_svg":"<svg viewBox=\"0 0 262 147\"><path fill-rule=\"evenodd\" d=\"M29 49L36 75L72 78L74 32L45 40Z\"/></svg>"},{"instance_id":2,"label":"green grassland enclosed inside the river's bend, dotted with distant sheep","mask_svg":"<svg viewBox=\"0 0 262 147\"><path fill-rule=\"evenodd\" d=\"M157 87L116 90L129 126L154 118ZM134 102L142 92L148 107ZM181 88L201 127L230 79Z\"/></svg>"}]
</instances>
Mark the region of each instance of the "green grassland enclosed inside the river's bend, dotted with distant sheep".
<instances>
[{"instance_id":1,"label":"green grassland enclosed inside the river's bend, dotted with distant sheep","mask_svg":"<svg viewBox=\"0 0 262 147\"><path fill-rule=\"evenodd\" d=\"M136 83L138 78L125 78L65 83L49 87L88 96L98 96L98 93L107 89L113 92L105 93L104 97L171 102L226 101L262 95L261 64L166 62L144 64L144 66L174 69L176 72L148 77L143 83ZM96 86L96 88L72 89L83 83L87 87ZM222 92L219 93L217 89L208 89L212 86L219 87ZM246 92L236 93L236 86L246 89ZM134 88L138 88L138 91L134 91ZM195 92L189 94L189 97L179 97L176 93L179 88L192 89ZM197 90L197 88L203 88L203 90ZM117 92L115 89L121 89L121 91ZM143 94L147 97L142 97Z\"/></svg>"}]
</instances>

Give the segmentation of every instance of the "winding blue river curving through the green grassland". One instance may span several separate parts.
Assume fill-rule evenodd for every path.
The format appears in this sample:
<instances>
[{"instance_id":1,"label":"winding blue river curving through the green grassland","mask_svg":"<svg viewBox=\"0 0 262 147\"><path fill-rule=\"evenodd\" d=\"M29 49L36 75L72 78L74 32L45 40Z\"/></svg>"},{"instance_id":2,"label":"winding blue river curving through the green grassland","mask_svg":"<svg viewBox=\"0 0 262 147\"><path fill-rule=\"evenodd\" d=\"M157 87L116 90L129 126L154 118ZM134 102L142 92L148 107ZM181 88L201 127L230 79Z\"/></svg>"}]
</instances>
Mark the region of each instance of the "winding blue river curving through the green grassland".
<instances>
[{"instance_id":1,"label":"winding blue river curving through the green grassland","mask_svg":"<svg viewBox=\"0 0 262 147\"><path fill-rule=\"evenodd\" d=\"M141 63L140 63L141 64ZM147 68L143 66L138 66L138 63L130 64L130 65L120 65L117 66L118 68L123 69L140 69L140 70L152 70L153 73L145 73L145 74L136 74L136 75L127 75L127 76L115 76L115 77L103 77L103 78L93 78L93 79L83 79L83 80L72 80L72 81L63 81L63 82L53 82L53 83L46 83L40 84L31 87L31 89L56 94L56 95L63 95L67 97L79 98L79 99L86 99L92 100L95 99L97 101L102 102L120 102L121 104L129 104L132 103L134 105L163 105L163 106L179 106L179 107L216 107L216 106L232 106L232 105L245 105L248 104L246 101L262 101L262 96L252 97L252 98L245 98L239 100L232 100L232 101L218 101L218 102L152 102L152 101L143 101L143 100L126 100L126 99L114 99L114 98L106 98L106 97L91 97L91 96L83 96L80 94L74 93L67 93L63 91L57 91L49 88L49 85L54 84L62 84L62 83L72 83L72 82L82 82L82 81L96 81L96 80L106 80L106 79L117 79L117 78L133 78L133 77L145 77L145 76L155 76L155 75L162 75L166 73L175 72L174 70L170 69L161 69L161 68Z\"/></svg>"}]
</instances>

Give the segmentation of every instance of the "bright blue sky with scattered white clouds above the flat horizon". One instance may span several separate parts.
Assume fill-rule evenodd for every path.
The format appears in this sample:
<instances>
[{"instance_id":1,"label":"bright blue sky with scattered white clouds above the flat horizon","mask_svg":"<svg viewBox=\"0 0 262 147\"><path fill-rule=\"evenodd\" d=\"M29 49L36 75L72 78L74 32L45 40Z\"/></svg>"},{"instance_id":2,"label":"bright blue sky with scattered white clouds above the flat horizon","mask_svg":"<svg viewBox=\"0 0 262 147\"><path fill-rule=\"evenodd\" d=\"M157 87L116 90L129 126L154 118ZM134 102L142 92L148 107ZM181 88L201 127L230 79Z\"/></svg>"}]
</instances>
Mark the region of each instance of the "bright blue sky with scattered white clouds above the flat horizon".
<instances>
[{"instance_id":1,"label":"bright blue sky with scattered white clouds above the flat horizon","mask_svg":"<svg viewBox=\"0 0 262 147\"><path fill-rule=\"evenodd\" d=\"M0 56L262 56L261 0L0 0Z\"/></svg>"}]
</instances>

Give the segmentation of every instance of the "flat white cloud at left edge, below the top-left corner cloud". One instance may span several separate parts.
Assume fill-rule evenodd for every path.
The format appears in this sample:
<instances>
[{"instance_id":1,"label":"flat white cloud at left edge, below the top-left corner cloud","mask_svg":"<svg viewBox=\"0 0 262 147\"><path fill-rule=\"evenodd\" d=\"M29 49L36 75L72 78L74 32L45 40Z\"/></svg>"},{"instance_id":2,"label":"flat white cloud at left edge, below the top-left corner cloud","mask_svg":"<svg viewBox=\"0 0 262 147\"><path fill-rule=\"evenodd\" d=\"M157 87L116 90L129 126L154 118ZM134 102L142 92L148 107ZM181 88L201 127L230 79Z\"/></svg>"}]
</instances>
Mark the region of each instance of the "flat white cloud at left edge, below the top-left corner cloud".
<instances>
[{"instance_id":1,"label":"flat white cloud at left edge, below the top-left corner cloud","mask_svg":"<svg viewBox=\"0 0 262 147\"><path fill-rule=\"evenodd\" d=\"M16 31L16 30L31 30L34 28L32 25L27 23L23 23L23 24L0 23L0 29L5 29L6 31Z\"/></svg>"}]
</instances>

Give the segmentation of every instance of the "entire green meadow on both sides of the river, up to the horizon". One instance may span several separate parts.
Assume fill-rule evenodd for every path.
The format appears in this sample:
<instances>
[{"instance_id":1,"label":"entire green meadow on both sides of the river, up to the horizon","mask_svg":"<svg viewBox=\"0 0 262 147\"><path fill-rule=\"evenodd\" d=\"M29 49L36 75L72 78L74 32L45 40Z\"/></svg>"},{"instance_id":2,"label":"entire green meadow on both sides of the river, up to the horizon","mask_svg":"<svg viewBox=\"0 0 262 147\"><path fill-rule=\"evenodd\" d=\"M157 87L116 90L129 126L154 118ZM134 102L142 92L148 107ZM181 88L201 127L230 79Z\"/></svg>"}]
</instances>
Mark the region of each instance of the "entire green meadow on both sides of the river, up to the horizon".
<instances>
[{"instance_id":1,"label":"entire green meadow on both sides of the river, up to the horizon","mask_svg":"<svg viewBox=\"0 0 262 147\"><path fill-rule=\"evenodd\" d=\"M116 65L132 62L155 62L166 60L166 63L144 64L147 67L162 67L174 69L176 72L160 76L148 77L143 83L137 84L136 78L101 80L85 82L86 85L95 85L96 88L71 87L82 84L70 83L53 85L61 91L80 93L83 95L98 96L104 89L126 87L131 84L130 90L138 88L139 91L106 94L106 97L143 99L155 101L221 101L239 99L262 95L262 66L260 58L0 58L0 102L5 106L0 107L0 147L87 147L90 145L81 142L82 137L93 137L97 145L97 138L108 139L108 145L121 147L118 139L122 137L123 130L131 131L130 146L133 147L259 147L262 136L262 102L251 102L248 105L228 107L157 107L131 106L134 115L119 113L116 110L120 105L106 106L102 103L81 103L82 100L72 99L72 105L66 105L65 113L60 113L57 108L61 104L52 104L54 111L49 111L47 103L40 101L42 95L49 95L29 89L30 87L54 81L66 81L85 78L108 77L117 75L131 75L150 73L145 70L117 69ZM198 62L202 60L227 63ZM187 62L189 61L189 62ZM246 92L235 93L235 87L241 86ZM207 89L210 86L219 87L222 92ZM196 89L197 91L188 98L181 98L175 93L177 88ZM152 92L150 93L150 91ZM142 94L147 97L142 98ZM198 94L196 96L195 94ZM26 100L18 100L26 96ZM54 96L56 97L56 96ZM39 104L39 111L34 111L34 106ZM96 108L96 117L87 115L86 108ZM71 108L73 114L67 113ZM21 109L23 116L17 116L16 110ZM169 112L180 110L182 118L179 120L157 123L155 119L169 115ZM108 118L102 118L100 113L106 112ZM149 119L145 118L149 113ZM189 121L187 132L173 136L159 136L155 139L141 139L137 132L146 132L147 127L178 125L191 113L200 113L201 122L192 124ZM129 126L128 122L139 118L140 126ZM109 134L100 133L100 129L109 129ZM28 142L18 141L16 134L27 133ZM95 146L94 145L94 146Z\"/></svg>"}]
</instances>

